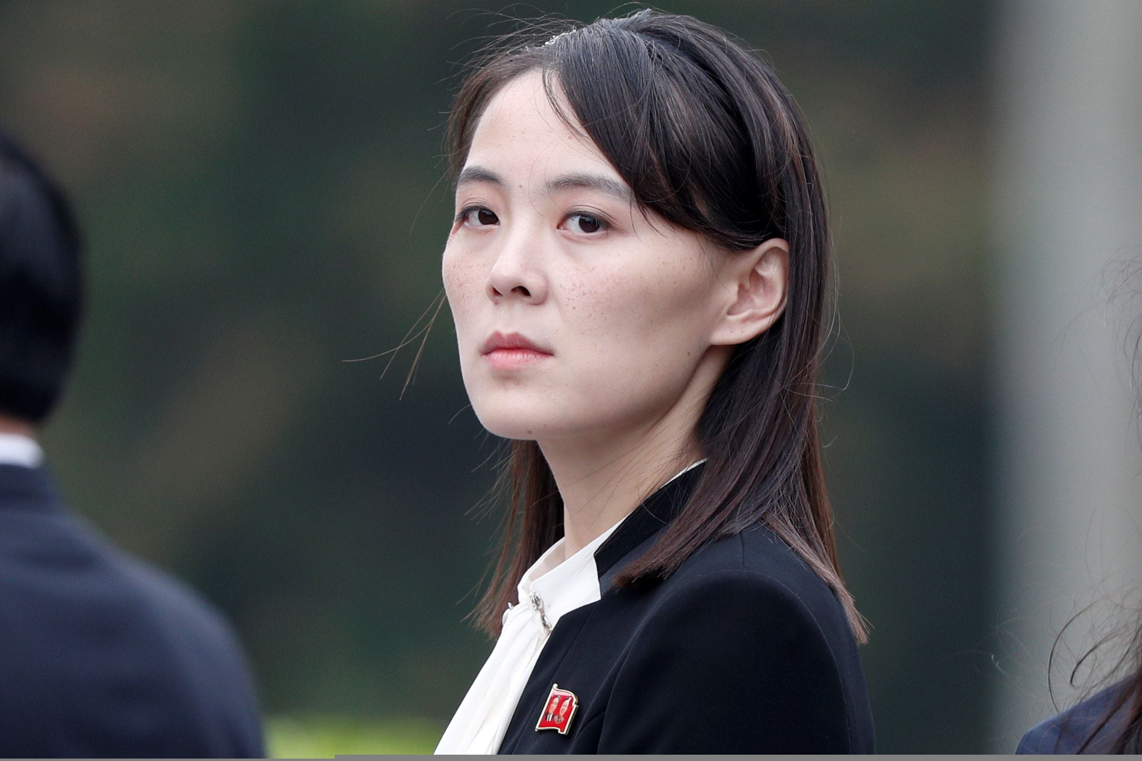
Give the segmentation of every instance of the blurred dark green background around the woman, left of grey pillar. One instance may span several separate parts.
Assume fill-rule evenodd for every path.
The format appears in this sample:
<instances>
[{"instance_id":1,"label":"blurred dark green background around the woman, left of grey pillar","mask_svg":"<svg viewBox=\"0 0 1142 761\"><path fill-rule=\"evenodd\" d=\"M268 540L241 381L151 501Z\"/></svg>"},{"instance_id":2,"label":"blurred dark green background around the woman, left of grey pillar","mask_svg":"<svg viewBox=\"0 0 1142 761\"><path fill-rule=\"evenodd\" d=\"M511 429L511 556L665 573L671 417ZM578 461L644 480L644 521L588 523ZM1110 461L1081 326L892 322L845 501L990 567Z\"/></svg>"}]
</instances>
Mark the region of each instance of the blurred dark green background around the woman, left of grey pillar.
<instances>
[{"instance_id":1,"label":"blurred dark green background around the woman, left of grey pillar","mask_svg":"<svg viewBox=\"0 0 1142 761\"><path fill-rule=\"evenodd\" d=\"M878 750L986 747L992 9L669 2L775 63L835 214L826 458ZM497 442L440 292L443 122L505 15L614 2L0 1L0 121L89 242L46 448L74 508L234 622L278 755L431 751L491 643L464 621ZM629 6L620 7L630 9ZM489 13L491 11L491 13Z\"/></svg>"}]
</instances>

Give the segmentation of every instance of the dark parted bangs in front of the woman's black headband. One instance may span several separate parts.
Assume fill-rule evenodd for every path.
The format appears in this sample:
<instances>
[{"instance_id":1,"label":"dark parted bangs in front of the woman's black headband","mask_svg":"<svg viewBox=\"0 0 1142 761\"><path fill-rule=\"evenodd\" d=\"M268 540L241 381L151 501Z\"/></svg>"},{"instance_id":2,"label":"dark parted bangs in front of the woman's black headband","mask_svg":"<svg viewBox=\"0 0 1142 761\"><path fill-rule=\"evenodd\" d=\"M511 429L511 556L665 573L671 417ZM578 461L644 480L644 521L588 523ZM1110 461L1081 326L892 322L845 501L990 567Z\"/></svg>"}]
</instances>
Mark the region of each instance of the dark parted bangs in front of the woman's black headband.
<instances>
[{"instance_id":1,"label":"dark parted bangs in front of the woman's black headband","mask_svg":"<svg viewBox=\"0 0 1142 761\"><path fill-rule=\"evenodd\" d=\"M542 42L516 41L493 56L465 86L468 98L461 91L457 100L453 171L463 168L488 103L508 81L538 70L555 112L600 148L643 209L731 250L780 235L772 211L757 203L770 195L759 183L772 184L777 175L772 167L757 171L750 115L718 79L694 66L684 34L650 35L626 23L644 15L670 18L641 11L600 19ZM714 47L732 44L714 27L703 31ZM727 156L734 161L727 164Z\"/></svg>"}]
</instances>

